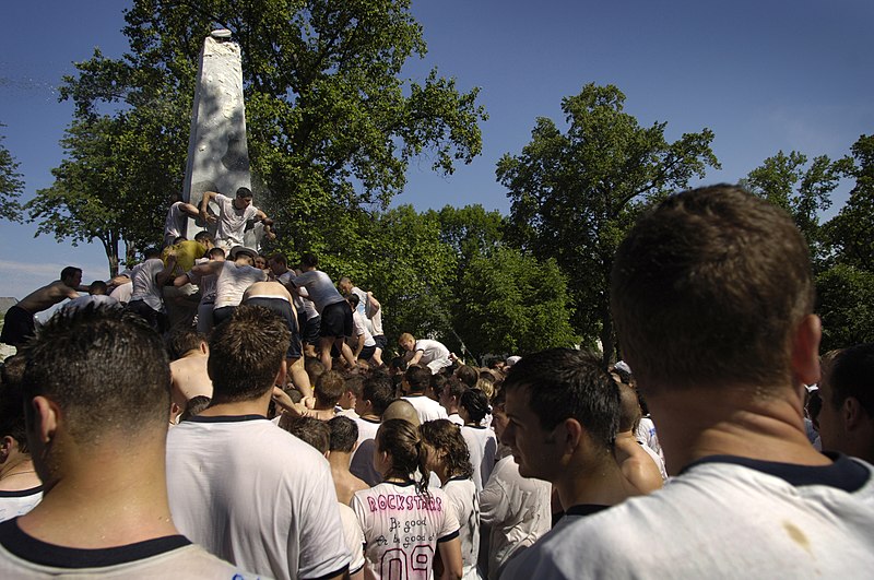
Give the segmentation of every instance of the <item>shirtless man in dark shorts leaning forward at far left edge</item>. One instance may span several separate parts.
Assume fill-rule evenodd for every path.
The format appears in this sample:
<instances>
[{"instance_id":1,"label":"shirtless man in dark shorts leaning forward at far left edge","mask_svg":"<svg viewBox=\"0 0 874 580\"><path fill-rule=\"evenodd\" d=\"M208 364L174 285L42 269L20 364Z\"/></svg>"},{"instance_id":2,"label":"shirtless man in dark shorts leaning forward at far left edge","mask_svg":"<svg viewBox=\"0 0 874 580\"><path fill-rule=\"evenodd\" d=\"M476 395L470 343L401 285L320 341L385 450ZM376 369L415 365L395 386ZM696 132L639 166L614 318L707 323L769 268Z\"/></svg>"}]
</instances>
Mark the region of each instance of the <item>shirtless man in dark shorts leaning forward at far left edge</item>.
<instances>
[{"instance_id":1,"label":"shirtless man in dark shorts leaning forward at far left edge","mask_svg":"<svg viewBox=\"0 0 874 580\"><path fill-rule=\"evenodd\" d=\"M88 287L82 285L82 269L68 265L61 270L60 280L32 292L7 310L0 342L17 350L34 335L34 315L67 298L79 298L80 292L88 292Z\"/></svg>"}]
</instances>

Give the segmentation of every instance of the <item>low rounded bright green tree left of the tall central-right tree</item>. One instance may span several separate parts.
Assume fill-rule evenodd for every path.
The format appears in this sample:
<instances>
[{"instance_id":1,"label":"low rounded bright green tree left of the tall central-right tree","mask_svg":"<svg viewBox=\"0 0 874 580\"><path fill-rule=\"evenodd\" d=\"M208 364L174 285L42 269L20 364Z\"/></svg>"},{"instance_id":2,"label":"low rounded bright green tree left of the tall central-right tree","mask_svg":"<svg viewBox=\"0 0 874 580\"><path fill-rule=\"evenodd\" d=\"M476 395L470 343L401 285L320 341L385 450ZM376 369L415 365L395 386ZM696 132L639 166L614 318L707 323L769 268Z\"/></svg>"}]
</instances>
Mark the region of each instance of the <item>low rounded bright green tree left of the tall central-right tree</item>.
<instances>
[{"instance_id":1,"label":"low rounded bright green tree left of the tall central-right tree","mask_svg":"<svg viewBox=\"0 0 874 580\"><path fill-rule=\"evenodd\" d=\"M474 255L458 285L456 329L473 353L523 354L579 342L555 260L509 247Z\"/></svg>"}]
</instances>

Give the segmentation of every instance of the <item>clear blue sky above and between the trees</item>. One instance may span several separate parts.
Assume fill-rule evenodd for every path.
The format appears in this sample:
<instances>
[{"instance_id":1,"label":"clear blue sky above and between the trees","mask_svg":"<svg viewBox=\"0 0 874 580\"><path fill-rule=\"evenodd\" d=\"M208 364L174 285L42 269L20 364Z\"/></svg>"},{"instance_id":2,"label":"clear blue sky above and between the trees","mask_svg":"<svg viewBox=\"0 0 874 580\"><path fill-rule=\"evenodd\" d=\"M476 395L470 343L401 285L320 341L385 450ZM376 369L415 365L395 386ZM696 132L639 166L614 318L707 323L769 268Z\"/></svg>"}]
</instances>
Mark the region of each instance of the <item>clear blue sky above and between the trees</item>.
<instances>
[{"instance_id":1,"label":"clear blue sky above and between the trees","mask_svg":"<svg viewBox=\"0 0 874 580\"><path fill-rule=\"evenodd\" d=\"M72 116L57 102L62 74L94 47L127 49L120 0L7 2L0 36L0 134L20 162L25 198L51 182ZM414 162L395 203L417 209L482 203L509 210L495 163L517 154L539 116L560 121L560 100L589 82L613 83L641 125L669 139L709 127L722 163L705 182L736 181L778 151L840 157L874 132L874 2L767 0L616 2L413 0L428 54L404 74L437 66L462 90L481 87L489 119L483 154L451 177ZM204 31L205 34L205 31ZM845 184L835 209L847 198ZM832 210L834 211L834 210ZM35 225L0 222L0 296L23 297L63 265L105 277L99 246L34 239Z\"/></svg>"}]
</instances>

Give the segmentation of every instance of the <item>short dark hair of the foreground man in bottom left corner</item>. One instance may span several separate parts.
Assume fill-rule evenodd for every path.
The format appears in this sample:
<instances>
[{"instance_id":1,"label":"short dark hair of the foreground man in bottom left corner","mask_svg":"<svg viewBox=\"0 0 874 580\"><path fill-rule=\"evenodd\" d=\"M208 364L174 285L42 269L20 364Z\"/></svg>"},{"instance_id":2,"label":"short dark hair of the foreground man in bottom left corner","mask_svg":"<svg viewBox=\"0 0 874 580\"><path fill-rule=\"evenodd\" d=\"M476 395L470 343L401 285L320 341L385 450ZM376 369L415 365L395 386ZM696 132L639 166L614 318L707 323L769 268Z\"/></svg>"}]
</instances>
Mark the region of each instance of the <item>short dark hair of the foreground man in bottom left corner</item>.
<instances>
[{"instance_id":1,"label":"short dark hair of the foreground man in bottom left corner","mask_svg":"<svg viewBox=\"0 0 874 580\"><path fill-rule=\"evenodd\" d=\"M24 351L25 414L34 396L54 401L80 445L116 439L139 445L166 429L170 369L161 336L121 308L60 311ZM114 434L111 436L107 434Z\"/></svg>"}]
</instances>

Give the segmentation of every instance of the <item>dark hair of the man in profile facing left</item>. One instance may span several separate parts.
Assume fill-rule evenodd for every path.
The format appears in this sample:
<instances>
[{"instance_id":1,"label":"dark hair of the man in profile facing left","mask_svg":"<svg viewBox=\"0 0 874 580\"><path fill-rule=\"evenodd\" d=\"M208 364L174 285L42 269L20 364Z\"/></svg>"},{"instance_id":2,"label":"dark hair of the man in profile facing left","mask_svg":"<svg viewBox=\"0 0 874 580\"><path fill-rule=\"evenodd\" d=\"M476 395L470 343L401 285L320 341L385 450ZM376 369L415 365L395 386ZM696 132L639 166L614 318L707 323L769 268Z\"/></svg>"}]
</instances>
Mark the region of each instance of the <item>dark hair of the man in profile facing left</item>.
<instances>
[{"instance_id":1,"label":"dark hair of the man in profile facing left","mask_svg":"<svg viewBox=\"0 0 874 580\"><path fill-rule=\"evenodd\" d=\"M588 351L550 348L510 368L504 390L524 389L528 406L546 430L572 418L590 438L612 449L619 427L619 390L601 357Z\"/></svg>"}]
</instances>

